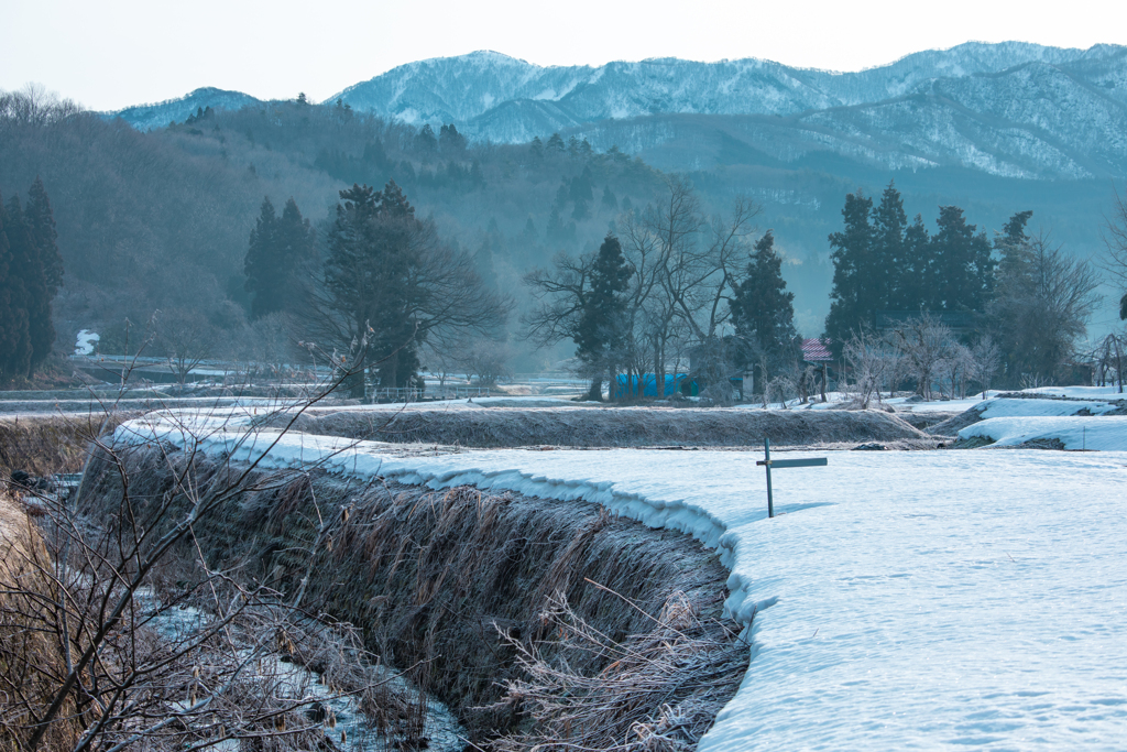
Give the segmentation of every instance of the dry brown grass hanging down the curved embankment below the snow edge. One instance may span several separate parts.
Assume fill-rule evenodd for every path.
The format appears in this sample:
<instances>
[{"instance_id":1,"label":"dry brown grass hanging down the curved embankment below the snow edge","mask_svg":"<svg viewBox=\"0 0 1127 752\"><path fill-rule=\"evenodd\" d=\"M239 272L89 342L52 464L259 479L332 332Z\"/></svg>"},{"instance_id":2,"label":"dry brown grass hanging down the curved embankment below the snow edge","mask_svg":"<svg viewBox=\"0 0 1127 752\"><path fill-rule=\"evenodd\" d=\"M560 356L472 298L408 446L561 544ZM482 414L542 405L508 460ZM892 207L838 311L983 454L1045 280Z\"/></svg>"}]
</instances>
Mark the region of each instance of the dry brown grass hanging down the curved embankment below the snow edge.
<instances>
[{"instance_id":1,"label":"dry brown grass hanging down the curved embankment below the snow edge","mask_svg":"<svg viewBox=\"0 0 1127 752\"><path fill-rule=\"evenodd\" d=\"M128 467L134 497L167 498L171 471L137 457ZM112 504L116 474L97 462L89 474L89 502ZM711 658L701 654L699 665L711 669L684 674L707 695L701 707L722 706L747 666L747 647L731 631L736 626L722 626L728 573L686 536L611 517L589 504L472 488L431 493L300 471L259 474L251 486L195 528L208 566L238 570L287 598L300 591L309 612L357 625L366 647L410 667L409 678L446 702L476 744L553 733L541 728L531 706L502 700L505 682L527 678L522 647L545 660L570 649L557 626L541 619L559 596L610 644L627 645L631 635L653 632L671 594L683 593L694 618L715 626L710 638L730 648L706 652ZM177 514L174 504L170 515ZM613 672L615 660L600 651L568 654L571 670L587 678ZM721 664L719 681L712 670ZM614 723L659 726L671 700L658 699L635 698L615 711L621 718ZM710 715L702 718L694 727L711 723Z\"/></svg>"}]
</instances>

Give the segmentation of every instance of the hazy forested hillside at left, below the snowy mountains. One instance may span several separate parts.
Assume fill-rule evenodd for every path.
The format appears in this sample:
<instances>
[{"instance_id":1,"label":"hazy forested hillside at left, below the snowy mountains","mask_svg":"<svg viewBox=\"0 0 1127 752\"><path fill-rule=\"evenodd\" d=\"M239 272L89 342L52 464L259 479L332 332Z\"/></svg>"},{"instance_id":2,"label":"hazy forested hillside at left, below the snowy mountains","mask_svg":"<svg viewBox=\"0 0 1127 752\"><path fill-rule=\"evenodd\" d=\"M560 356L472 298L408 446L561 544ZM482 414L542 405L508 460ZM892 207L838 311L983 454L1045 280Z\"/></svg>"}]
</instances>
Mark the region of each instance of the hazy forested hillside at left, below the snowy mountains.
<instances>
[{"instance_id":1,"label":"hazy forested hillside at left, below the snowy mountains","mask_svg":"<svg viewBox=\"0 0 1127 752\"><path fill-rule=\"evenodd\" d=\"M141 133L69 103L9 95L0 189L37 176L66 268L61 342L95 328L118 344L126 318L141 333L156 310L196 311L234 350L252 336L243 264L264 197L279 209L292 197L323 250L339 191L393 179L445 245L520 303L525 271L561 249L597 247L622 209L663 184L644 162L575 140L470 145L454 129L435 134L343 106L199 110Z\"/></svg>"}]
</instances>

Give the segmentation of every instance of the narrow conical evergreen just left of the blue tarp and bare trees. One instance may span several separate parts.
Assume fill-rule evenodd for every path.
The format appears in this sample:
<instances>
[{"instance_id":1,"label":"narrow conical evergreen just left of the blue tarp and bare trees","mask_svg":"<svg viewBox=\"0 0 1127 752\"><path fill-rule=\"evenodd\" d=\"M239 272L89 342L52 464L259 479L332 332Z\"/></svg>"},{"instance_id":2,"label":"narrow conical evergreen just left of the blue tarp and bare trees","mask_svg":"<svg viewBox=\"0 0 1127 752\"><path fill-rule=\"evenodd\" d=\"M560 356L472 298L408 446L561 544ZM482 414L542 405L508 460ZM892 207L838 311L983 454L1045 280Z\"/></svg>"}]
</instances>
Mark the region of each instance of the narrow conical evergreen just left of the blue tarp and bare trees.
<instances>
[{"instance_id":1,"label":"narrow conical evergreen just left of the blue tarp and bare trees","mask_svg":"<svg viewBox=\"0 0 1127 752\"><path fill-rule=\"evenodd\" d=\"M622 254L622 245L607 235L591 268L591 286L583 301L575 343L576 356L595 378L589 397L602 398L602 377L613 371L625 336L625 295L633 272Z\"/></svg>"}]
</instances>

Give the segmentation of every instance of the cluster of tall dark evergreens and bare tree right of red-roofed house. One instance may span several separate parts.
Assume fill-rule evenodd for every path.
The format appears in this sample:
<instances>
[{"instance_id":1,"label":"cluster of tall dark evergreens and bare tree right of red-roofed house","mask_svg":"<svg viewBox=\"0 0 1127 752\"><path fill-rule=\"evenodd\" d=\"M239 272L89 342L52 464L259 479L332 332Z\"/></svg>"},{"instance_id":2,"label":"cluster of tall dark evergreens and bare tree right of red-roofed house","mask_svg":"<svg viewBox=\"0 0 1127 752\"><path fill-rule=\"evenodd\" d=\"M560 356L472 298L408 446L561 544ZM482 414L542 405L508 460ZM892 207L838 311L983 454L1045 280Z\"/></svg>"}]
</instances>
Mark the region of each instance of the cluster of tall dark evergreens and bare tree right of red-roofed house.
<instances>
[{"instance_id":1,"label":"cluster of tall dark evergreens and bare tree right of red-roofed house","mask_svg":"<svg viewBox=\"0 0 1127 752\"><path fill-rule=\"evenodd\" d=\"M848 194L844 227L828 238L834 286L824 336L834 354L842 357L851 342L857 351L858 337L881 330L898 331L906 347L905 331L926 315L940 326L944 318L958 322L959 346L992 343L999 375L1010 386L1063 377L1099 303L1100 278L1048 233L1030 235L1031 216L1014 213L990 239L958 206L940 206L931 233L920 214L907 222L893 183L877 205L860 191ZM898 324L907 320L911 326ZM913 336L919 350L924 336ZM915 377L929 373L917 369Z\"/></svg>"}]
</instances>

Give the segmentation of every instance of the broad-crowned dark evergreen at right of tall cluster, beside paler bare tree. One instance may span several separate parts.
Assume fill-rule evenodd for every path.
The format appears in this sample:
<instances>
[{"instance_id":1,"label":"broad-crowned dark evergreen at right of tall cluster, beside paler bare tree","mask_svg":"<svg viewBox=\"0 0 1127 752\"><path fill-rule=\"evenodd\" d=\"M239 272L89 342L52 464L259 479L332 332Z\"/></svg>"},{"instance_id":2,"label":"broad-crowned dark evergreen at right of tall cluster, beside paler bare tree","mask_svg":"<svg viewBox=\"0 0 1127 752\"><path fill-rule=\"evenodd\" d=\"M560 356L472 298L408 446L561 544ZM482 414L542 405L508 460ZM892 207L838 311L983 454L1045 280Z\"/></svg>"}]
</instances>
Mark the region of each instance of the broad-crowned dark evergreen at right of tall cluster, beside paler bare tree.
<instances>
[{"instance_id":1,"label":"broad-crowned dark evergreen at right of tall cluster, beside paler bare tree","mask_svg":"<svg viewBox=\"0 0 1127 752\"><path fill-rule=\"evenodd\" d=\"M935 307L947 311L983 311L994 291L994 262L986 233L967 224L958 206L940 206L939 232L932 238Z\"/></svg>"}]
</instances>

